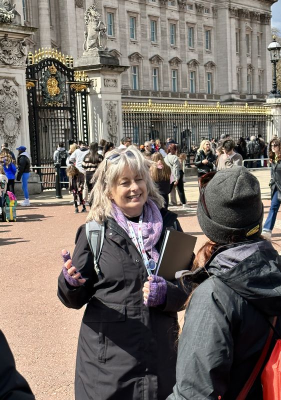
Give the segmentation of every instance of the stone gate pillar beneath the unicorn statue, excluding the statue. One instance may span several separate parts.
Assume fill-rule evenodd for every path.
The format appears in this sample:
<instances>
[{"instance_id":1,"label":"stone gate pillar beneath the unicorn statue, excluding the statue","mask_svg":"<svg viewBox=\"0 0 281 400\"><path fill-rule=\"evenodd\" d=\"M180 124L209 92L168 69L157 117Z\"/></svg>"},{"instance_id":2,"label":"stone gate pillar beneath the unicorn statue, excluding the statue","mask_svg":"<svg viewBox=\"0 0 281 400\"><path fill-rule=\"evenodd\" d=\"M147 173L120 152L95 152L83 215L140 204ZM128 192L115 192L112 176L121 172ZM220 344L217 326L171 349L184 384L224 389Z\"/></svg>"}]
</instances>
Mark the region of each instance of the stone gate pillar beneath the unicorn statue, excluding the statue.
<instances>
[{"instance_id":1,"label":"stone gate pillar beneath the unicorn statue, excluding the statue","mask_svg":"<svg viewBox=\"0 0 281 400\"><path fill-rule=\"evenodd\" d=\"M95 49L74 61L76 70L83 70L90 79L89 138L101 138L118 146L122 132L121 73L128 66L119 65L117 57Z\"/></svg>"}]
</instances>

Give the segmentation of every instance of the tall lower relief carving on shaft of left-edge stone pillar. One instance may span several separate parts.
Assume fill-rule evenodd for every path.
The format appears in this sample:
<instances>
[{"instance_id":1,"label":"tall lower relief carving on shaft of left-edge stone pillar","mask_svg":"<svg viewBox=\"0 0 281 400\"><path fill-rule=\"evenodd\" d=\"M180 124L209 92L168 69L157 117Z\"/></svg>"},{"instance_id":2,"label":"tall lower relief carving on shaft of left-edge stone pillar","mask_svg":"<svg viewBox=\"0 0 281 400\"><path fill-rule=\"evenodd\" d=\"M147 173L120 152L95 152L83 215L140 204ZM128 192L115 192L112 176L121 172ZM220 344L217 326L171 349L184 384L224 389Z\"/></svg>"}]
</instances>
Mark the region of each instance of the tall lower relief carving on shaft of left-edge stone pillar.
<instances>
[{"instance_id":1,"label":"tall lower relief carving on shaft of left-edge stone pillar","mask_svg":"<svg viewBox=\"0 0 281 400\"><path fill-rule=\"evenodd\" d=\"M13 80L0 77L0 136L14 148L20 133L18 90Z\"/></svg>"}]
</instances>

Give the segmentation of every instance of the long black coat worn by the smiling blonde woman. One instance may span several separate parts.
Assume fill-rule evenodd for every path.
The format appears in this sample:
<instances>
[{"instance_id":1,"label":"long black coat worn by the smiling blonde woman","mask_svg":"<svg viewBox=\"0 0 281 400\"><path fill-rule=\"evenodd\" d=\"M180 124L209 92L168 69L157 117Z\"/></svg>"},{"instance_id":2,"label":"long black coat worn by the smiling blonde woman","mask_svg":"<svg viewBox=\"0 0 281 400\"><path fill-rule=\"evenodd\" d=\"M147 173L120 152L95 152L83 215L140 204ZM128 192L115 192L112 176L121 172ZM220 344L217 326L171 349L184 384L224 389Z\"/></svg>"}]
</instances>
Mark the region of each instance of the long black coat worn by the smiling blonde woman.
<instances>
[{"instance_id":1,"label":"long black coat worn by the smiling blonde woman","mask_svg":"<svg viewBox=\"0 0 281 400\"><path fill-rule=\"evenodd\" d=\"M175 221L176 214L166 211L158 249L165 228ZM88 302L78 340L75 398L164 400L175 383L176 312L186 293L168 282L165 304L144 306L145 266L127 233L112 219L105 223L99 259L104 277L95 274L84 225L77 232L72 263L86 283L73 288L61 273L58 297L71 308Z\"/></svg>"}]
</instances>

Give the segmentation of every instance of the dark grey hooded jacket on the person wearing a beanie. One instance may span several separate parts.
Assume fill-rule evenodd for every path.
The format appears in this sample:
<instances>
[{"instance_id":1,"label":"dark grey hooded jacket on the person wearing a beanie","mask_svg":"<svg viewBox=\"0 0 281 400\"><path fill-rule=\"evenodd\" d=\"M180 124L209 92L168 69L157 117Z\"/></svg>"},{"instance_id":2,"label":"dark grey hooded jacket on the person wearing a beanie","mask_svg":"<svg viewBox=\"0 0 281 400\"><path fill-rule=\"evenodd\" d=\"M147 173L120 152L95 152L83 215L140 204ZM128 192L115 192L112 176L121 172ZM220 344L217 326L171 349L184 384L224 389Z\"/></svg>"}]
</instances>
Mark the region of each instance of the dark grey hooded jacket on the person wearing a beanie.
<instances>
[{"instance_id":1,"label":"dark grey hooded jacket on the person wearing a beanie","mask_svg":"<svg viewBox=\"0 0 281 400\"><path fill-rule=\"evenodd\" d=\"M222 246L205 267L211 276L186 309L168 400L236 399L267 339L266 319L281 315L281 259L270 242ZM262 400L260 378L246 399Z\"/></svg>"}]
</instances>

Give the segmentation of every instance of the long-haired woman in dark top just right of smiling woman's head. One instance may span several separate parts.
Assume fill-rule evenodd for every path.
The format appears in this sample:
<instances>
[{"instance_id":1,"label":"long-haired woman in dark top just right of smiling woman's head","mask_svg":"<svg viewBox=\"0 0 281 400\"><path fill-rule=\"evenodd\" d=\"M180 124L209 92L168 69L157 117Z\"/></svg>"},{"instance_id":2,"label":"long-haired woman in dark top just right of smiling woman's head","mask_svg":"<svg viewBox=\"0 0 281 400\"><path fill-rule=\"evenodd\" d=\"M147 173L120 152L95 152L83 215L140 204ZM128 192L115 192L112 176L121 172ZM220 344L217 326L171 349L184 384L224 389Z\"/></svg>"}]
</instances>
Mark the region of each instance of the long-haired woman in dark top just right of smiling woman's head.
<instances>
[{"instance_id":1,"label":"long-haired woman in dark top just right of smiling woman's head","mask_svg":"<svg viewBox=\"0 0 281 400\"><path fill-rule=\"evenodd\" d=\"M150 166L150 176L158 186L160 194L165 201L164 208L168 208L169 192L170 192L170 167L165 163L162 154L155 151L151 159L153 163Z\"/></svg>"}]
</instances>

